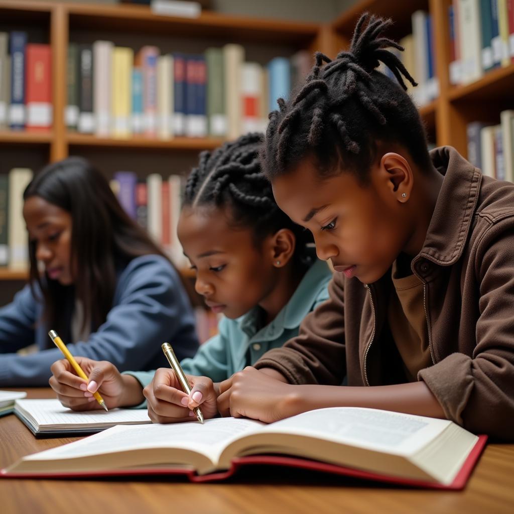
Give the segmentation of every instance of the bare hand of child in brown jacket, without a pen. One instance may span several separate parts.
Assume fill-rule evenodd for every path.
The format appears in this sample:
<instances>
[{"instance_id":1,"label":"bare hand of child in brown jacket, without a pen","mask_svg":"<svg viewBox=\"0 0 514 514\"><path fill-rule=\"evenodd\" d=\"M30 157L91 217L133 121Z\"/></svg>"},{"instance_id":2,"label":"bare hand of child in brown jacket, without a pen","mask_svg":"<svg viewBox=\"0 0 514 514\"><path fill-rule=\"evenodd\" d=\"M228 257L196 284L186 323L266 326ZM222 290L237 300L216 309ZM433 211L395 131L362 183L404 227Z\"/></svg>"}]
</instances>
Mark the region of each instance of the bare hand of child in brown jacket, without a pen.
<instances>
[{"instance_id":1,"label":"bare hand of child in brown jacket, without a pen","mask_svg":"<svg viewBox=\"0 0 514 514\"><path fill-rule=\"evenodd\" d=\"M219 384L219 412L222 416L248 417L264 423L298 414L301 411L295 386L280 377L251 366L235 373Z\"/></svg>"}]
</instances>

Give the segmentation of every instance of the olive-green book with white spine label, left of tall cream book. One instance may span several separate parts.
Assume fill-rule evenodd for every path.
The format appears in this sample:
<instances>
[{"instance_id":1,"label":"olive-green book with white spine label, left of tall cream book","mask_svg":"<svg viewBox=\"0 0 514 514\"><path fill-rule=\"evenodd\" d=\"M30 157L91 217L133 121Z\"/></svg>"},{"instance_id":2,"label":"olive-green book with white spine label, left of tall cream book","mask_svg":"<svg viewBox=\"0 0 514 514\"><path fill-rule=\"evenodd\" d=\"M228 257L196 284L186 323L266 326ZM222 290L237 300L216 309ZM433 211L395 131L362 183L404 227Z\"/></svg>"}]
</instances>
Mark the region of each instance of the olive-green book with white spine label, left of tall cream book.
<instances>
[{"instance_id":1,"label":"olive-green book with white spine label, left of tall cream book","mask_svg":"<svg viewBox=\"0 0 514 514\"><path fill-rule=\"evenodd\" d=\"M205 51L205 60L207 63L209 134L211 136L223 137L227 134L223 50L221 48L208 48Z\"/></svg>"}]
</instances>

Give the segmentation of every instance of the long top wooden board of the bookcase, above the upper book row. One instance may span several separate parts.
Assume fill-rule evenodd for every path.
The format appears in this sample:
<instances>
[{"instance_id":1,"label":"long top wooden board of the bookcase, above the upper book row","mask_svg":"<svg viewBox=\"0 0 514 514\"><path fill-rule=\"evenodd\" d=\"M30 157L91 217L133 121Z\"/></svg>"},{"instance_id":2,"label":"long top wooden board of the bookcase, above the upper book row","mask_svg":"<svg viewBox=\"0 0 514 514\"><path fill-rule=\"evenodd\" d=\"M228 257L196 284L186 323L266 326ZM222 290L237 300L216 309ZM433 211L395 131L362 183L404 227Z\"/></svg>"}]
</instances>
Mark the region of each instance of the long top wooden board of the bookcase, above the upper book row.
<instances>
[{"instance_id":1,"label":"long top wooden board of the bookcase, above the upper book row","mask_svg":"<svg viewBox=\"0 0 514 514\"><path fill-rule=\"evenodd\" d=\"M196 18L153 14L149 7L137 5L67 5L70 29L107 29L164 33L173 36L250 40L268 44L302 45L318 35L315 23L287 22L234 16L203 11Z\"/></svg>"}]
</instances>

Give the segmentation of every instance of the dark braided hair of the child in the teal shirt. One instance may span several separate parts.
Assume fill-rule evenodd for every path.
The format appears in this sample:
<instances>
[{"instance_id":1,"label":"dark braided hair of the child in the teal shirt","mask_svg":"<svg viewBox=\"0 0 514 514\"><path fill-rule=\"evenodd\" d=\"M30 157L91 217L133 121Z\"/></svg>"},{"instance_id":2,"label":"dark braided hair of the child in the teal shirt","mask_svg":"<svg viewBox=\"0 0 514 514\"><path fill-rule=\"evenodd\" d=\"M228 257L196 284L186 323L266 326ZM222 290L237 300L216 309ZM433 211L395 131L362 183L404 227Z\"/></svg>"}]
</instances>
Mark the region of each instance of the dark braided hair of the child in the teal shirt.
<instances>
[{"instance_id":1,"label":"dark braided hair of the child in the teal shirt","mask_svg":"<svg viewBox=\"0 0 514 514\"><path fill-rule=\"evenodd\" d=\"M225 143L212 154L202 152L198 167L188 177L183 205L228 207L234 228L251 228L256 244L287 228L296 237L293 260L307 266L314 258L313 239L277 206L271 183L261 171L263 141L263 134L251 133Z\"/></svg>"}]
</instances>

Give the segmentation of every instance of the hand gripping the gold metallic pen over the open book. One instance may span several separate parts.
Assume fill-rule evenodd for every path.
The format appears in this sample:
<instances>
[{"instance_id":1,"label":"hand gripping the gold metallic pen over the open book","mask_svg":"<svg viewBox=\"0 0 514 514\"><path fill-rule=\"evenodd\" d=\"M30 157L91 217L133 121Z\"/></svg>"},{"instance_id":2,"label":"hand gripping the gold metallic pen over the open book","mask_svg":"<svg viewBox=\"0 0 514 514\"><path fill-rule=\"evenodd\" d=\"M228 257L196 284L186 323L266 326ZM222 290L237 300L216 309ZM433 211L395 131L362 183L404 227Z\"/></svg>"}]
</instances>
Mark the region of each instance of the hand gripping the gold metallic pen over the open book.
<instances>
[{"instance_id":1,"label":"hand gripping the gold metallic pen over the open book","mask_svg":"<svg viewBox=\"0 0 514 514\"><path fill-rule=\"evenodd\" d=\"M179 423L195 421L195 407L200 406L204 419L214 417L218 411L217 388L207 377L186 375L191 384L191 394L186 394L180 387L173 370L160 368L155 372L151 383L143 389L148 400L148 415L154 423Z\"/></svg>"}]
</instances>

